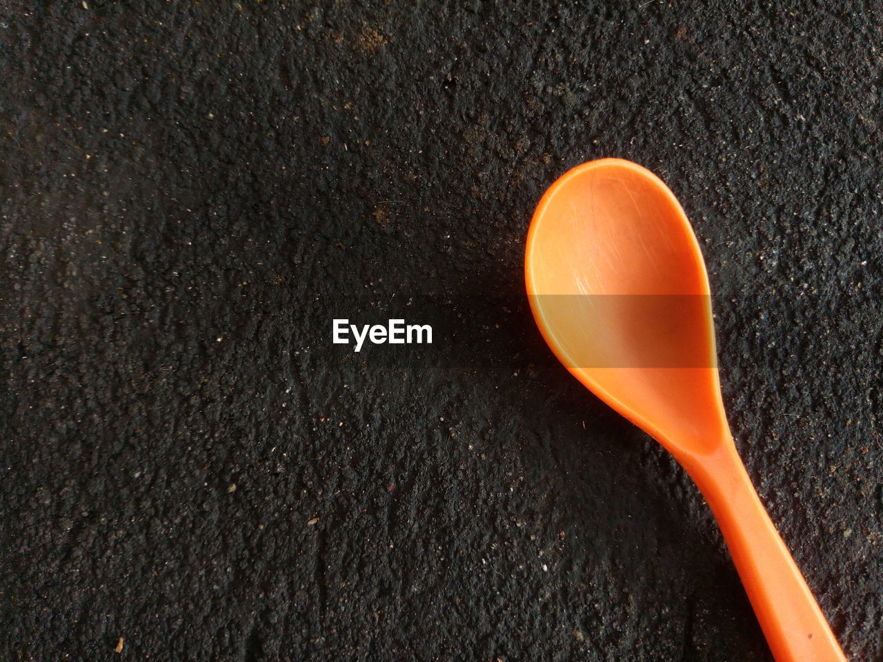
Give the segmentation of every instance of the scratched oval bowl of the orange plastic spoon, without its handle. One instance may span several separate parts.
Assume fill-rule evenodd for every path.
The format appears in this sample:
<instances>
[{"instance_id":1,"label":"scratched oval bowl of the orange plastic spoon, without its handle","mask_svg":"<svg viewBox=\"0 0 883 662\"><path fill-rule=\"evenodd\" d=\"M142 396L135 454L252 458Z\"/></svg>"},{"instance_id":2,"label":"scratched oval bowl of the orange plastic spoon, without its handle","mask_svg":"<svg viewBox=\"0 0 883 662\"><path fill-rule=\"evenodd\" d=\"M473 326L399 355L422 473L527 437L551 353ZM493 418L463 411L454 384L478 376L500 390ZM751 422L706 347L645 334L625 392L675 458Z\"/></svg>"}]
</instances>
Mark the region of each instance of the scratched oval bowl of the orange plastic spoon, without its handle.
<instances>
[{"instance_id":1,"label":"scratched oval bowl of the orange plastic spoon, without its handle","mask_svg":"<svg viewBox=\"0 0 883 662\"><path fill-rule=\"evenodd\" d=\"M548 190L527 239L540 331L585 387L678 456L725 440L705 264L681 205L604 159Z\"/></svg>"}]
</instances>

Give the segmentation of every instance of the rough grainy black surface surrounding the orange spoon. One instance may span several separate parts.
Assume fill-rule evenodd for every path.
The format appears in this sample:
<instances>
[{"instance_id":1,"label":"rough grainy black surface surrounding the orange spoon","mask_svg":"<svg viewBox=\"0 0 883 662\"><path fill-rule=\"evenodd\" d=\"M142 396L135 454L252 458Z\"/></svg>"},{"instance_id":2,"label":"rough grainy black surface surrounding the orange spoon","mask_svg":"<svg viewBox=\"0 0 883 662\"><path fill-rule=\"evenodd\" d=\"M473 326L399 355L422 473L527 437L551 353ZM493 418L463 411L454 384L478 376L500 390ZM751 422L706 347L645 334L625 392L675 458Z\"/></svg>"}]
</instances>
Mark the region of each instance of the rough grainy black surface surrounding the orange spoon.
<instances>
[{"instance_id":1,"label":"rough grainy black surface surrounding the orange spoon","mask_svg":"<svg viewBox=\"0 0 883 662\"><path fill-rule=\"evenodd\" d=\"M618 155L683 200L751 477L883 659L872 5L4 3L0 658L769 660L683 471L494 308L541 192ZM347 297L433 293L503 320L471 363L330 350Z\"/></svg>"}]
</instances>

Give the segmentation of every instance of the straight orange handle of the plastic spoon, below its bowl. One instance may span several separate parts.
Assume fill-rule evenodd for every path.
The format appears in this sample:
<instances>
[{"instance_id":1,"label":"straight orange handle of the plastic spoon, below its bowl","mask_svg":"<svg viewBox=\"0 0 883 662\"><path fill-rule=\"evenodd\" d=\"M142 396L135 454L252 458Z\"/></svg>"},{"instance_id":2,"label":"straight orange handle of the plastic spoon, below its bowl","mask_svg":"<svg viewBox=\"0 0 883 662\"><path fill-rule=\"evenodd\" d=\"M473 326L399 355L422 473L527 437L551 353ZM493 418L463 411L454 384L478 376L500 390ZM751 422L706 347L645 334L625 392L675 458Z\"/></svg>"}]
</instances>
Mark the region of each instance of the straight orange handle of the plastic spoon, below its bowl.
<instances>
[{"instance_id":1,"label":"straight orange handle of the plastic spoon, below its bowl","mask_svg":"<svg viewBox=\"0 0 883 662\"><path fill-rule=\"evenodd\" d=\"M825 615L766 514L736 447L690 471L721 527L776 662L846 662Z\"/></svg>"}]
</instances>

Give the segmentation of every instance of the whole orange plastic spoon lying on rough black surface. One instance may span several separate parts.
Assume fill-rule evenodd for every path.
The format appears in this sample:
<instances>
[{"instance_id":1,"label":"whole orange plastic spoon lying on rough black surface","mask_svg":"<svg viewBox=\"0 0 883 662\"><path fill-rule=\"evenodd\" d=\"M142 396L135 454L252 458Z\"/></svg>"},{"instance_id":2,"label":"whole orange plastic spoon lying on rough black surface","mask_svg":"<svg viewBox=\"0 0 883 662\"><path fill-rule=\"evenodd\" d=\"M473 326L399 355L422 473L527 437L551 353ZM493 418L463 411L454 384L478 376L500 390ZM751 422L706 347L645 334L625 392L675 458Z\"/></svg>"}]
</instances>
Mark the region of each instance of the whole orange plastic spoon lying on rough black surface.
<instances>
[{"instance_id":1,"label":"whole orange plastic spoon lying on rough black surface","mask_svg":"<svg viewBox=\"0 0 883 662\"><path fill-rule=\"evenodd\" d=\"M570 170L533 214L525 277L555 355L706 497L777 662L845 661L736 454L706 267L675 195L620 159Z\"/></svg>"}]
</instances>

